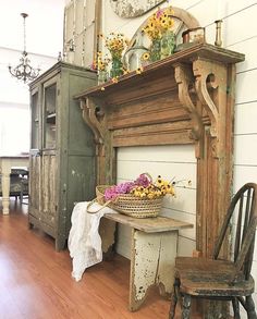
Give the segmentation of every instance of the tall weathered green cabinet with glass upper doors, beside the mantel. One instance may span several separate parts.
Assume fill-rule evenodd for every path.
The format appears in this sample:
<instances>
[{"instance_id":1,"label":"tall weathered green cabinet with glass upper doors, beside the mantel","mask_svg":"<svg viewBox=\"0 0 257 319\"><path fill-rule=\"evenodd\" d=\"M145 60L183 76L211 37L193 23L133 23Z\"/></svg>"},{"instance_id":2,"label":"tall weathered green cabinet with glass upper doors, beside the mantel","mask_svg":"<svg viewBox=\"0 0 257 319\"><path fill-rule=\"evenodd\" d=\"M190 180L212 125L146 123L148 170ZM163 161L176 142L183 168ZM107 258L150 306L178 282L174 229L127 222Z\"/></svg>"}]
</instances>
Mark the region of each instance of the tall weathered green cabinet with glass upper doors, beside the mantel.
<instances>
[{"instance_id":1,"label":"tall weathered green cabinet with glass upper doors, beside the mantel","mask_svg":"<svg viewBox=\"0 0 257 319\"><path fill-rule=\"evenodd\" d=\"M95 144L74 95L96 73L58 62L30 85L29 226L65 247L74 203L95 196Z\"/></svg>"}]
</instances>

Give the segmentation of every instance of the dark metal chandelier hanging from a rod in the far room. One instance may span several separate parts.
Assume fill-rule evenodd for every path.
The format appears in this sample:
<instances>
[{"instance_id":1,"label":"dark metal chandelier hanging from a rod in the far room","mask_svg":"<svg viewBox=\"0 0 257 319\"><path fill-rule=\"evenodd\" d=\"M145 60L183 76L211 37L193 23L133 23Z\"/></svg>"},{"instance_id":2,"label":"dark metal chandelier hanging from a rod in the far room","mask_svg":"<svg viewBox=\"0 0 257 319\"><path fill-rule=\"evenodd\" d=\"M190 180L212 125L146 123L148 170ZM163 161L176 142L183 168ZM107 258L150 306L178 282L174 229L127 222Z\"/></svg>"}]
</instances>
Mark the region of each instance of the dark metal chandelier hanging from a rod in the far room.
<instances>
[{"instance_id":1,"label":"dark metal chandelier hanging from a rod in the far room","mask_svg":"<svg viewBox=\"0 0 257 319\"><path fill-rule=\"evenodd\" d=\"M12 74L12 76L16 77L17 79L22 79L24 83L28 81L33 81L36 78L39 74L40 69L33 69L29 63L29 59L27 58L27 51L26 51L26 17L28 16L27 13L21 13L23 17L23 39L24 39L24 49L22 52L22 58L20 59L20 64L12 68L9 65L9 71Z\"/></svg>"}]
</instances>

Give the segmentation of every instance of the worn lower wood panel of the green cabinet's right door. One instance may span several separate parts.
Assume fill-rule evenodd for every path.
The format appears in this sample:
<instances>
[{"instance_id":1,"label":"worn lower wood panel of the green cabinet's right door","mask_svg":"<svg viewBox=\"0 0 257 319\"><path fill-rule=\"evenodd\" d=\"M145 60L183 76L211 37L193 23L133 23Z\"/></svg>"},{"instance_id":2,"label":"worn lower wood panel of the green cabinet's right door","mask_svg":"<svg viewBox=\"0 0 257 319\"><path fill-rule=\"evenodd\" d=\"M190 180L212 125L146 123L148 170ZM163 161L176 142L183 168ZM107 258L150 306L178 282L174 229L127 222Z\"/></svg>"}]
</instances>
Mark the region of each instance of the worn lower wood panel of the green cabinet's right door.
<instances>
[{"instance_id":1,"label":"worn lower wood panel of the green cabinet's right door","mask_svg":"<svg viewBox=\"0 0 257 319\"><path fill-rule=\"evenodd\" d=\"M41 222L56 226L57 219L57 160L56 155L42 155Z\"/></svg>"}]
</instances>

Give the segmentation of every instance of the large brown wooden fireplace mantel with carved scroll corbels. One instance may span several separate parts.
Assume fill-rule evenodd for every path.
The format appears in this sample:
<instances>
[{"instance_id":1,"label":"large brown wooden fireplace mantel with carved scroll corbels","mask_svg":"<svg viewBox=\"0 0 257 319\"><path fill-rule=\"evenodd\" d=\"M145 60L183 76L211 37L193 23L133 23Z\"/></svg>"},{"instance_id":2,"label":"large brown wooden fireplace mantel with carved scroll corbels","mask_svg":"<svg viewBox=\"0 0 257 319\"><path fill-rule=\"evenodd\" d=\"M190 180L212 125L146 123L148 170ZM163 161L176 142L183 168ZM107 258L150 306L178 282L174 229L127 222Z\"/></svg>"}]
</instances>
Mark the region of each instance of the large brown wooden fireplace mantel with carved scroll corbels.
<instances>
[{"instance_id":1,"label":"large brown wooden fireplace mantel with carved scroll corbels","mask_svg":"<svg viewBox=\"0 0 257 319\"><path fill-rule=\"evenodd\" d=\"M208 44L75 96L94 132L97 183L115 182L115 148L194 144L196 245L209 256L231 198L235 63L244 54Z\"/></svg>"}]
</instances>

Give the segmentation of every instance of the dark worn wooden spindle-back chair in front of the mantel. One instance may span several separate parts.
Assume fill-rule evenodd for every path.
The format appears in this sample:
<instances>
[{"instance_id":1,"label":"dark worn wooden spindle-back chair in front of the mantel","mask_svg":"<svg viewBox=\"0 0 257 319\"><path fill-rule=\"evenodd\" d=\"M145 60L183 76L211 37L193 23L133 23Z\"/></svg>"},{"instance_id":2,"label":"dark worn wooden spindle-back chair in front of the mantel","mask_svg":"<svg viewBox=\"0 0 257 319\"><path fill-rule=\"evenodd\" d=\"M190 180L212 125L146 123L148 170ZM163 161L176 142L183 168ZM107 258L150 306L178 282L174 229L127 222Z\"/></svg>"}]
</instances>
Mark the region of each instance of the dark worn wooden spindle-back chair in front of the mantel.
<instances>
[{"instance_id":1,"label":"dark worn wooden spindle-back chair in front of the mantel","mask_svg":"<svg viewBox=\"0 0 257 319\"><path fill-rule=\"evenodd\" d=\"M176 257L170 319L174 318L178 299L182 307L182 318L191 318L192 298L231 300L235 319L241 318L242 304L247 318L257 319L252 297L255 283L250 275L257 226L256 196L257 184L254 183L245 184L235 194L224 218L212 259ZM222 260L219 255L222 243L228 243L228 236L232 247L231 260Z\"/></svg>"}]
</instances>

